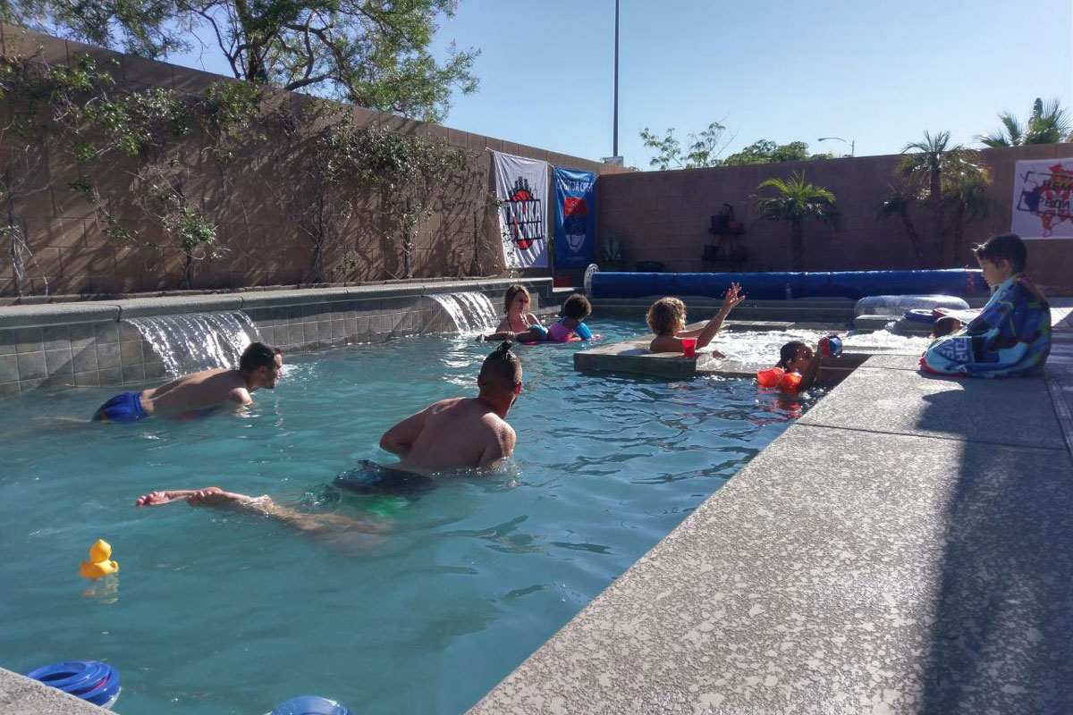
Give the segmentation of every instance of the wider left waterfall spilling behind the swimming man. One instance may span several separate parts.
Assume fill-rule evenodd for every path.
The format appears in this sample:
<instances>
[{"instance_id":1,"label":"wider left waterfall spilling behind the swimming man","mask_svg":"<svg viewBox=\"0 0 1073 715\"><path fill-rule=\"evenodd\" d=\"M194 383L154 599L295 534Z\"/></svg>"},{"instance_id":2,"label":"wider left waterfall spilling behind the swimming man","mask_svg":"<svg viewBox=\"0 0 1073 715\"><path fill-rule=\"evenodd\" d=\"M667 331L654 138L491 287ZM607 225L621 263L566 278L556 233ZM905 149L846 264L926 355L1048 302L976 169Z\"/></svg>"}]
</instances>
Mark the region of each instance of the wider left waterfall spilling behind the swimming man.
<instances>
[{"instance_id":1,"label":"wider left waterfall spilling behind the swimming man","mask_svg":"<svg viewBox=\"0 0 1073 715\"><path fill-rule=\"evenodd\" d=\"M238 356L254 340L258 327L241 311L189 313L126 318L172 375L210 368L237 368Z\"/></svg>"}]
</instances>

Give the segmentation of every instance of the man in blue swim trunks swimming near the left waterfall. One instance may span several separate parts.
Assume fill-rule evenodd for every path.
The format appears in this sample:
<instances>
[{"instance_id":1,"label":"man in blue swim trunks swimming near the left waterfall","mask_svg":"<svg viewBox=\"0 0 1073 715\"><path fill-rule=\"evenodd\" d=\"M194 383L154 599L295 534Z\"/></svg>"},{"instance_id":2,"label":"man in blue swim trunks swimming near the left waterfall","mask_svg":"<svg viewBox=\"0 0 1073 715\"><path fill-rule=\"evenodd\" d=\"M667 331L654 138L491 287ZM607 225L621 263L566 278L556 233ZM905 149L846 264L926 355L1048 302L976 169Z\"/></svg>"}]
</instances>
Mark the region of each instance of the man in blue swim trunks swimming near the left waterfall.
<instances>
[{"instance_id":1,"label":"man in blue swim trunks swimming near the left waterfall","mask_svg":"<svg viewBox=\"0 0 1073 715\"><path fill-rule=\"evenodd\" d=\"M134 422L155 414L177 416L226 403L247 405L253 402L253 390L276 387L282 368L283 356L278 347L250 343L238 359L237 370L203 370L160 387L117 394L97 408L93 420Z\"/></svg>"}]
</instances>

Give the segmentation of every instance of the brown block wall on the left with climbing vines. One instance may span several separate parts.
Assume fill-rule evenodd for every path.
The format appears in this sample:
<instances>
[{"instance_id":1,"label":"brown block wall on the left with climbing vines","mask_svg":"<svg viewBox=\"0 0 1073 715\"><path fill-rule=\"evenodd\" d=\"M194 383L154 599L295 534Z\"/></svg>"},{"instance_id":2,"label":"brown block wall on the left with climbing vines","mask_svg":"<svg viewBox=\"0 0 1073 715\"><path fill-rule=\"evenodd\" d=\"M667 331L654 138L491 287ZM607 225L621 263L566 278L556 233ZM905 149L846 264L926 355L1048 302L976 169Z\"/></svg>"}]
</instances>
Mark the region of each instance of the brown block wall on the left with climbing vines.
<instances>
[{"instance_id":1,"label":"brown block wall on the left with climbing vines","mask_svg":"<svg viewBox=\"0 0 1073 715\"><path fill-rule=\"evenodd\" d=\"M0 25L0 51L11 56L33 56L50 64L65 64L89 55L107 69L120 87L132 90L150 87L199 93L225 77L187 70L164 62L121 55L76 42L68 42L21 28ZM293 92L276 92L271 105L297 111L340 105ZM539 159L552 165L576 169L624 172L621 167L568 157L545 149L505 141L411 121L362 108L352 109L358 125L379 124L403 134L441 137L465 152L467 169L450 183L442 200L433 205L431 218L418 226L413 251L416 278L459 278L496 275L503 269L499 227L496 220L491 152ZM0 118L4 105L0 101ZM225 177L199 151L196 137L182 157L188 182L186 194L217 225L220 243L227 249L217 259L199 262L194 287L234 288L259 285L289 285L313 280L313 250L298 227L291 199L307 182L289 174L298 154L308 151L312 133L285 138L269 135L267 140L242 147L239 160ZM12 152L26 152L10 133L0 147L0 160ZM31 150L36 150L31 147ZM146 221L137 204L147 194L137 185L135 160L108 157L107 161L84 167L75 165L59 143L41 147L40 161L16 200L16 212L25 224L34 254L29 266L28 293L42 295L47 279L54 295L129 294L174 291L180 286L183 257L159 225ZM103 232L94 208L68 183L79 176L88 179L107 202L120 224L138 233L141 247L124 245ZM356 210L342 220L339 240L325 254L325 279L329 282L379 281L401 277L397 226L377 211L379 197L365 193L354 197ZM548 203L550 204L550 202ZM549 206L550 208L550 206ZM549 214L550 215L550 214ZM550 225L550 222L549 222ZM158 242L164 248L145 248ZM476 268L474 268L474 255ZM547 271L540 271L547 274ZM0 296L12 296L13 275L8 252L0 255Z\"/></svg>"}]
</instances>

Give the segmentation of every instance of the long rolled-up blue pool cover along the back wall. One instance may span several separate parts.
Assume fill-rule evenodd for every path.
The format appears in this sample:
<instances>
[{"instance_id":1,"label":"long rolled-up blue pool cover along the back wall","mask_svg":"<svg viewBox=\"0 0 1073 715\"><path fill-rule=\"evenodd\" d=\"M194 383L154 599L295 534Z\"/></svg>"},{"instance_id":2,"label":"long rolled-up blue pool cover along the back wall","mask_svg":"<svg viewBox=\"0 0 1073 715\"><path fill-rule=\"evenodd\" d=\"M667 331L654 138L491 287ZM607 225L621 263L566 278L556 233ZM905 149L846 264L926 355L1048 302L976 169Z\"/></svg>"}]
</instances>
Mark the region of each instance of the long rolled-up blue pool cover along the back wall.
<instances>
[{"instance_id":1,"label":"long rolled-up blue pool cover along the back wall","mask_svg":"<svg viewBox=\"0 0 1073 715\"><path fill-rule=\"evenodd\" d=\"M721 298L731 282L756 300L793 298L864 298L874 295L986 296L980 270L859 270L765 273L616 273L592 274L593 298L704 296Z\"/></svg>"}]
</instances>

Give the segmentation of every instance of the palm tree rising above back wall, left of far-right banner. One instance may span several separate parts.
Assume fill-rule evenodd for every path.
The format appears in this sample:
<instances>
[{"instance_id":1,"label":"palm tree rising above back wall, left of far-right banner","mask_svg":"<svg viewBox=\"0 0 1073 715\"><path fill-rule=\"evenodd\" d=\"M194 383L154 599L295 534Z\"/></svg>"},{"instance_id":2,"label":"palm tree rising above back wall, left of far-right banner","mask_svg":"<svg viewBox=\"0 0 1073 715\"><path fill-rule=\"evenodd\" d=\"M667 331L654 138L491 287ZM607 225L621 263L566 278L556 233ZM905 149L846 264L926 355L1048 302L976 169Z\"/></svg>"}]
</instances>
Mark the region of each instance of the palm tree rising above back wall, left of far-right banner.
<instances>
[{"instance_id":1,"label":"palm tree rising above back wall, left of far-right banner","mask_svg":"<svg viewBox=\"0 0 1073 715\"><path fill-rule=\"evenodd\" d=\"M959 144L951 144L950 132L931 135L924 132L923 141L911 141L901 150L896 175L931 209L937 265L942 265L946 248L943 229L945 209L944 178L947 175L970 175L984 172L980 155Z\"/></svg>"}]
</instances>

